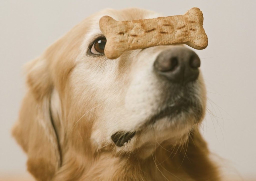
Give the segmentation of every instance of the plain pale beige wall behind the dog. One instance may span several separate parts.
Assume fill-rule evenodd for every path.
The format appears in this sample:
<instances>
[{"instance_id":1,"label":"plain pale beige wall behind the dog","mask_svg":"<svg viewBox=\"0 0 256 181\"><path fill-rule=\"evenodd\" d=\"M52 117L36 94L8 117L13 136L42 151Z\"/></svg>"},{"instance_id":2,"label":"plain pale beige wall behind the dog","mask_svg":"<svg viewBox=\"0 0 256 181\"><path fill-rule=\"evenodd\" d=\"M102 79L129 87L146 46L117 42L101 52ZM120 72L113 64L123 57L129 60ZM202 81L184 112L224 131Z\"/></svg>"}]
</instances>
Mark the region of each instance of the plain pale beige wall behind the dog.
<instances>
[{"instance_id":1,"label":"plain pale beige wall behind the dog","mask_svg":"<svg viewBox=\"0 0 256 181\"><path fill-rule=\"evenodd\" d=\"M209 38L205 50L196 50L208 89L202 132L214 153L241 175L256 178L255 2L0 0L0 175L23 175L26 170L26 156L10 137L25 92L24 63L88 15L134 6L165 16L184 14L191 7L202 10Z\"/></svg>"}]
</instances>

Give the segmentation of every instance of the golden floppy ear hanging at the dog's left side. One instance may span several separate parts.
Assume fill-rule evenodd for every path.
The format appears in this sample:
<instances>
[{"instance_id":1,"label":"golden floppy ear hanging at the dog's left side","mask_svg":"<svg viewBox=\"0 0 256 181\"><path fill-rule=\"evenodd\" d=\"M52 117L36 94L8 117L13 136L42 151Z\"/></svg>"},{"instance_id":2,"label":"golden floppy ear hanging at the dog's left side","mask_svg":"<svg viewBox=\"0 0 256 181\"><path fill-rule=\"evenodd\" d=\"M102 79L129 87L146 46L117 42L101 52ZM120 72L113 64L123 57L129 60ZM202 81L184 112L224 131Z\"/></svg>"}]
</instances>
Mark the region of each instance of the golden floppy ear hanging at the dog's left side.
<instances>
[{"instance_id":1,"label":"golden floppy ear hanging at the dog's left side","mask_svg":"<svg viewBox=\"0 0 256 181\"><path fill-rule=\"evenodd\" d=\"M27 71L28 92L12 134L28 155L28 171L37 180L51 180L61 156L50 113L50 72L45 59L30 62Z\"/></svg>"}]
</instances>

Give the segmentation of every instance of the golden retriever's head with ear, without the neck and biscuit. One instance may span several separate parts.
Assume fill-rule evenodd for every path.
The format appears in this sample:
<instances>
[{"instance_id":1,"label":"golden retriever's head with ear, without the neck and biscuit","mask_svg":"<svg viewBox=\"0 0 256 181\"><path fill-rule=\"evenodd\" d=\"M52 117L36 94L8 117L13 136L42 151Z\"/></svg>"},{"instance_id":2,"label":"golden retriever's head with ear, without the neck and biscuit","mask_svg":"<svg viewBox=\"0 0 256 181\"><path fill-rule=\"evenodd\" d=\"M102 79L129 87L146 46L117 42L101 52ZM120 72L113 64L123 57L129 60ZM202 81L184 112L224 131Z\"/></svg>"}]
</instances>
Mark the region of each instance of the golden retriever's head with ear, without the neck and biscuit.
<instances>
[{"instance_id":1,"label":"golden retriever's head with ear, without the neck and biscuit","mask_svg":"<svg viewBox=\"0 0 256 181\"><path fill-rule=\"evenodd\" d=\"M136 8L104 10L28 64L28 93L13 134L37 178L52 178L71 150L88 157L108 151L146 158L156 143L184 143L204 117L206 91L195 52L155 46L110 60L98 24L104 15L159 17Z\"/></svg>"}]
</instances>

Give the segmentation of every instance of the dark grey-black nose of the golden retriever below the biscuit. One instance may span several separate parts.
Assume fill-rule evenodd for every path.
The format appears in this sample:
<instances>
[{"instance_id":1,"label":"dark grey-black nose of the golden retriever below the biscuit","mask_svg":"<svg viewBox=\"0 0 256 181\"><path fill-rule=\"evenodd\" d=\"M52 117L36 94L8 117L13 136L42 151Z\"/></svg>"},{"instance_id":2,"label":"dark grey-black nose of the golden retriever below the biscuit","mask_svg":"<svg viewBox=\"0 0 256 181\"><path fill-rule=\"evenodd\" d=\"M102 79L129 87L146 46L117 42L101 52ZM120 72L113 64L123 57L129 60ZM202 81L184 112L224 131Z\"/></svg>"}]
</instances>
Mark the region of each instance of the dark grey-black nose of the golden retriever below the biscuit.
<instances>
[{"instance_id":1,"label":"dark grey-black nose of the golden retriever below the biscuit","mask_svg":"<svg viewBox=\"0 0 256 181\"><path fill-rule=\"evenodd\" d=\"M155 71L173 83L188 83L198 78L200 59L185 47L173 47L162 51L154 62Z\"/></svg>"}]
</instances>

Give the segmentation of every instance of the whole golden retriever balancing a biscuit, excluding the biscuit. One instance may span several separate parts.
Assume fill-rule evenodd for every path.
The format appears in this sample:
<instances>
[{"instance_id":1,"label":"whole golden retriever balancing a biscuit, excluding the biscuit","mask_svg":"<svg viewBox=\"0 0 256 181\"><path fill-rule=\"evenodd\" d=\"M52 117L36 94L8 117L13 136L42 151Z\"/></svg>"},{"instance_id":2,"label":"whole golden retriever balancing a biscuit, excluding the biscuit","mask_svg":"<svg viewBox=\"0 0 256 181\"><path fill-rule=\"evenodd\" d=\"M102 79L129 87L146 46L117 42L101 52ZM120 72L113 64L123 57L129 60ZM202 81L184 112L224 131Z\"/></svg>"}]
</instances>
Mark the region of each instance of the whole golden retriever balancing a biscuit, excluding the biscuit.
<instances>
[{"instance_id":1,"label":"whole golden retriever balancing a biscuit, excluding the biscuit","mask_svg":"<svg viewBox=\"0 0 256 181\"><path fill-rule=\"evenodd\" d=\"M26 66L12 134L37 180L219 180L199 126L200 59L182 45L104 56L99 19L156 18L138 8L89 16Z\"/></svg>"}]
</instances>

